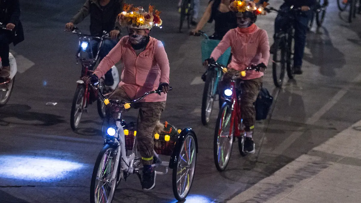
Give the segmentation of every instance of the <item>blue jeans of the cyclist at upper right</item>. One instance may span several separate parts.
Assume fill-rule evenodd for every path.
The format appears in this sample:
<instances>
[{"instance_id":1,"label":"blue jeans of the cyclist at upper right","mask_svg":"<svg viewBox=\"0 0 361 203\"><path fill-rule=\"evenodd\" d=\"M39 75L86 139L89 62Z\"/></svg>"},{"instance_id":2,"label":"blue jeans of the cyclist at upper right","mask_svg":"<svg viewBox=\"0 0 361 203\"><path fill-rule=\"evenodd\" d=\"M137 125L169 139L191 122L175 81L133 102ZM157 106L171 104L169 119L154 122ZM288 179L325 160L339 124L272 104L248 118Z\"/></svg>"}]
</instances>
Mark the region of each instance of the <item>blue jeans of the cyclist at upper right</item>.
<instances>
[{"instance_id":1,"label":"blue jeans of the cyclist at upper right","mask_svg":"<svg viewBox=\"0 0 361 203\"><path fill-rule=\"evenodd\" d=\"M287 5L282 5L280 10L288 12L290 8ZM293 66L302 66L303 53L306 46L306 34L308 29L308 22L311 11L303 12L302 15L297 15L295 18L295 55L293 57ZM277 33L287 23L288 18L284 14L279 13L274 22L274 30Z\"/></svg>"}]
</instances>

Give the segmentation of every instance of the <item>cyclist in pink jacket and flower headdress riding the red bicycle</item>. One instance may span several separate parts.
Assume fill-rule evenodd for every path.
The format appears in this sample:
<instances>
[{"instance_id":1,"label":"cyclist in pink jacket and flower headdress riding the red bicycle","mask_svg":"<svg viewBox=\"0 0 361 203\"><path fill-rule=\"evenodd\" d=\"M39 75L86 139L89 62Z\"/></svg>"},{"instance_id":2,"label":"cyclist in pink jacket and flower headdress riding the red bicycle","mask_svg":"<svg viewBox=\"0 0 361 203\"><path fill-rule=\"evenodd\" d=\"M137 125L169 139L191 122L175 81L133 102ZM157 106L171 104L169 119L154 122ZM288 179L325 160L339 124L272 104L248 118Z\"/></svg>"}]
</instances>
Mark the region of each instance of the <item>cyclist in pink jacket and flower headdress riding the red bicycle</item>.
<instances>
[{"instance_id":1,"label":"cyclist in pink jacket and flower headdress riding the red bicycle","mask_svg":"<svg viewBox=\"0 0 361 203\"><path fill-rule=\"evenodd\" d=\"M226 33L218 46L213 50L210 59L206 60L205 64L217 61L219 56L221 56L227 48L231 47L232 60L228 65L228 69L234 69L239 72L245 70L245 68L251 64L258 65L262 63L264 67L266 67L270 57L268 35L265 30L261 30L254 24L258 15L266 14L264 10L266 5L267 3L262 6L256 6L253 1L249 0L234 1L231 3L230 9L237 12L238 27ZM263 71L263 68L260 72L256 72L255 70L247 71L247 75L242 77L244 84L240 107L246 131L244 150L248 153L255 153L253 129L256 122L256 109L253 103L256 102L262 86ZM227 76L226 73L223 80L225 80Z\"/></svg>"}]
</instances>

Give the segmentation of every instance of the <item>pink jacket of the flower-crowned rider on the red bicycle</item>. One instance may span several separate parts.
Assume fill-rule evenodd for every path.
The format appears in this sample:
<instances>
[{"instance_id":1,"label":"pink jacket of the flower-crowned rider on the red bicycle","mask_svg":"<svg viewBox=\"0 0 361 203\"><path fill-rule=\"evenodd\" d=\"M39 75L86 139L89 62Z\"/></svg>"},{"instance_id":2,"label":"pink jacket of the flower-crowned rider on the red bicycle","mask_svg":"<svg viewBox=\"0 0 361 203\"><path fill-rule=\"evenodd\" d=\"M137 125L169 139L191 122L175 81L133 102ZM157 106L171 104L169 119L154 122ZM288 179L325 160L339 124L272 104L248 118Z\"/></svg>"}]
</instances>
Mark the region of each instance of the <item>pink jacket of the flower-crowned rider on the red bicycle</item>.
<instances>
[{"instance_id":1,"label":"pink jacket of the flower-crowned rider on the red bicycle","mask_svg":"<svg viewBox=\"0 0 361 203\"><path fill-rule=\"evenodd\" d=\"M242 71L251 64L258 65L262 62L268 64L270 57L268 35L255 24L244 29L237 27L228 31L210 57L217 61L228 47L231 47L232 52L232 60L228 68ZM256 79L262 76L262 72L249 70L242 79Z\"/></svg>"}]
</instances>

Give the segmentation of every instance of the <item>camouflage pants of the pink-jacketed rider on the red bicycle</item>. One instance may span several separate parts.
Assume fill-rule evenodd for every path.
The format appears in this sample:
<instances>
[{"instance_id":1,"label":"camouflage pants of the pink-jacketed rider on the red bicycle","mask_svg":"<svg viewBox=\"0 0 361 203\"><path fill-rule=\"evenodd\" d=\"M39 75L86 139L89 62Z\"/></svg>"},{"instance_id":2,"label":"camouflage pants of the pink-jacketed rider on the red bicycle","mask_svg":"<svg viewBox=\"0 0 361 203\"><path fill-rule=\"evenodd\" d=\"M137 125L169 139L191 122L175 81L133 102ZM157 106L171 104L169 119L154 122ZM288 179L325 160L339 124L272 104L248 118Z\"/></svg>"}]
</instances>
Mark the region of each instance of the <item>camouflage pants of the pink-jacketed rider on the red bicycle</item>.
<instances>
[{"instance_id":1,"label":"camouflage pants of the pink-jacketed rider on the red bicycle","mask_svg":"<svg viewBox=\"0 0 361 203\"><path fill-rule=\"evenodd\" d=\"M261 90L262 78L244 80L242 85L242 96L240 107L242 111L243 124L246 131L255 127L256 109L253 103L256 102L258 93Z\"/></svg>"}]
</instances>

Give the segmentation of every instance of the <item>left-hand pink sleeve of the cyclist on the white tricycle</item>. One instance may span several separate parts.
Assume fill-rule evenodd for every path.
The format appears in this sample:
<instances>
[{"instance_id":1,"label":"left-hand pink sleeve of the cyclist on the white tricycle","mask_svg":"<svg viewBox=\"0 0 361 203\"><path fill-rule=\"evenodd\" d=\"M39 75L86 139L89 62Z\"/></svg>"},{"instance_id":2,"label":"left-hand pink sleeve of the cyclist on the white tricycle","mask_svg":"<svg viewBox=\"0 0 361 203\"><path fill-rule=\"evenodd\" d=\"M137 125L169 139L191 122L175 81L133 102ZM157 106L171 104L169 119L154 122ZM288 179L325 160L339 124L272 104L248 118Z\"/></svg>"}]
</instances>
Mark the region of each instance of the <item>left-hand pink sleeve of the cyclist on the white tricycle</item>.
<instances>
[{"instance_id":1,"label":"left-hand pink sleeve of the cyclist on the white tricycle","mask_svg":"<svg viewBox=\"0 0 361 203\"><path fill-rule=\"evenodd\" d=\"M103 77L114 64L122 59L122 40L100 61L98 67L95 69L94 74L98 78Z\"/></svg>"}]
</instances>

